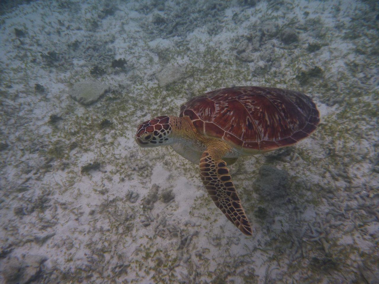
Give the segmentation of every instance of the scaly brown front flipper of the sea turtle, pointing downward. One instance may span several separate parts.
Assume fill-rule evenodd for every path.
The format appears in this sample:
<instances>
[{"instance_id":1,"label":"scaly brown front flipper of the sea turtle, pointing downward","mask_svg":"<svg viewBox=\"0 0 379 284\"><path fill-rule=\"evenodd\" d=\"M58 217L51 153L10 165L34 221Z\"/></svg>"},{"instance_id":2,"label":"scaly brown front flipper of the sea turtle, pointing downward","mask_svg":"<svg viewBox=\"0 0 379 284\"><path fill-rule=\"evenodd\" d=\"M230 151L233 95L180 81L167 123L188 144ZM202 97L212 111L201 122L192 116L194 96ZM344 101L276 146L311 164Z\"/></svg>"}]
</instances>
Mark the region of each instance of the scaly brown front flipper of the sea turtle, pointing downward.
<instances>
[{"instance_id":1,"label":"scaly brown front flipper of the sea turtle, pointing downward","mask_svg":"<svg viewBox=\"0 0 379 284\"><path fill-rule=\"evenodd\" d=\"M201 180L216 206L242 233L252 236L252 229L241 206L226 162L217 149L208 147L200 158Z\"/></svg>"}]
</instances>

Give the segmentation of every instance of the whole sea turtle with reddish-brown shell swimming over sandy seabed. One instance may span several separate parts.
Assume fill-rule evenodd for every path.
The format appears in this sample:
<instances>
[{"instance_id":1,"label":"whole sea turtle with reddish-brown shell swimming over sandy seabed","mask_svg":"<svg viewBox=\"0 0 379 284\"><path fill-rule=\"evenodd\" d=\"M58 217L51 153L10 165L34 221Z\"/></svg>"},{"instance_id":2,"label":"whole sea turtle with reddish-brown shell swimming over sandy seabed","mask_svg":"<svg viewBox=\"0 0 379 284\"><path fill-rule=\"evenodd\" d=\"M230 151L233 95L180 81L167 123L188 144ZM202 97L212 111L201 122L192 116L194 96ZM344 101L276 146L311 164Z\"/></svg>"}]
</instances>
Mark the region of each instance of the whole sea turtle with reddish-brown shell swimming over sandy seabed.
<instances>
[{"instance_id":1,"label":"whole sea turtle with reddish-brown shell swimming over sandy seabed","mask_svg":"<svg viewBox=\"0 0 379 284\"><path fill-rule=\"evenodd\" d=\"M312 99L296 91L231 87L192 98L180 115L163 115L138 126L139 146L171 145L199 165L201 180L216 206L242 233L252 229L227 165L238 157L295 144L319 123Z\"/></svg>"}]
</instances>

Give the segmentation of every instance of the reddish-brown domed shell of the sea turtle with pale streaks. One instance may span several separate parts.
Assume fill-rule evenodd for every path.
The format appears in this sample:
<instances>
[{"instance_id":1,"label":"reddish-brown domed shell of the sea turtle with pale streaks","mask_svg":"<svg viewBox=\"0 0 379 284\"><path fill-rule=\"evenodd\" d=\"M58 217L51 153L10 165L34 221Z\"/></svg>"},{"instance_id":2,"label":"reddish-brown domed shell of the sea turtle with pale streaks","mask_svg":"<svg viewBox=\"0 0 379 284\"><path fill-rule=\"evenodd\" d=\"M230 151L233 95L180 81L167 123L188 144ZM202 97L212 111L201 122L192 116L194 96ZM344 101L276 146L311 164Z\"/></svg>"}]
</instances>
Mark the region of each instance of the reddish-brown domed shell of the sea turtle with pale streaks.
<instances>
[{"instance_id":1,"label":"reddish-brown domed shell of the sea turtle with pale streaks","mask_svg":"<svg viewBox=\"0 0 379 284\"><path fill-rule=\"evenodd\" d=\"M180 108L197 131L247 154L271 151L309 136L319 123L312 99L296 91L232 87L200 95Z\"/></svg>"}]
</instances>

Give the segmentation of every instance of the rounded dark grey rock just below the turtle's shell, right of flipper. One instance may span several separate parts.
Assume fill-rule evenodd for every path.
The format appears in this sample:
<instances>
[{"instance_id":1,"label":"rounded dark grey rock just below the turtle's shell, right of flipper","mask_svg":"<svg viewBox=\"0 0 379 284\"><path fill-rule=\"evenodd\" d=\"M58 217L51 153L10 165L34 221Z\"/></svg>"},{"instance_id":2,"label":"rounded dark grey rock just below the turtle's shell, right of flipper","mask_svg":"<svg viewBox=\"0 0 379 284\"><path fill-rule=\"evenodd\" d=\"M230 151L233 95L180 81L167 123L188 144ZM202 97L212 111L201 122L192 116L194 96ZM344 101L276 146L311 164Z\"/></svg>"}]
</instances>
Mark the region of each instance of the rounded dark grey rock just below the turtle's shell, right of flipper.
<instances>
[{"instance_id":1,"label":"rounded dark grey rock just below the turtle's shell, right of flipper","mask_svg":"<svg viewBox=\"0 0 379 284\"><path fill-rule=\"evenodd\" d=\"M263 165L259 169L259 177L255 180L254 189L266 200L283 198L287 195L290 175L271 165Z\"/></svg>"}]
</instances>

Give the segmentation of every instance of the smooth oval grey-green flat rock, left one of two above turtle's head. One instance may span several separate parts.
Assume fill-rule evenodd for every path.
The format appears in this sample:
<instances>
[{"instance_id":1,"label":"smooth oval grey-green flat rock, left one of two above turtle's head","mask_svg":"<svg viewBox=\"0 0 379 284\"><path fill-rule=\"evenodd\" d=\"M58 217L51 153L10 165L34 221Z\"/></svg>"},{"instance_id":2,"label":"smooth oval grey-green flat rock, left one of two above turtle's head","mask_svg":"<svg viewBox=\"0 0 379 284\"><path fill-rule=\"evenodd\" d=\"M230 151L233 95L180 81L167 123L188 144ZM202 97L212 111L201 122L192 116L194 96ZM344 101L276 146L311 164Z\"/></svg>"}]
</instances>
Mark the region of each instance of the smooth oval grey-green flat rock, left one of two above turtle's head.
<instances>
[{"instance_id":1,"label":"smooth oval grey-green flat rock, left one of two above turtle's head","mask_svg":"<svg viewBox=\"0 0 379 284\"><path fill-rule=\"evenodd\" d=\"M97 81L85 80L74 84L69 95L82 105L90 105L109 91L109 86Z\"/></svg>"}]
</instances>

